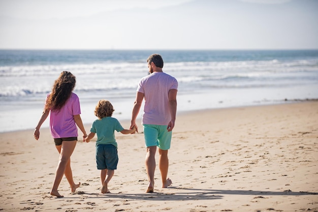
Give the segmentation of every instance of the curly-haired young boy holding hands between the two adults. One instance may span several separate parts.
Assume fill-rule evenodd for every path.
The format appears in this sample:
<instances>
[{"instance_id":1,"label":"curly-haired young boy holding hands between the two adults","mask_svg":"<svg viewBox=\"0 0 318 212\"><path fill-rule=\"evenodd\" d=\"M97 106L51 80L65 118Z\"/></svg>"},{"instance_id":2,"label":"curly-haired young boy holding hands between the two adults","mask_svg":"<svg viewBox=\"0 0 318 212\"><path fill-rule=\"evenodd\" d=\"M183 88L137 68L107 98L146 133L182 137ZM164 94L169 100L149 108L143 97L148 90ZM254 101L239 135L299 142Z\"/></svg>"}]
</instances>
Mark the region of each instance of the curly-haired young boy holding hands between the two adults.
<instances>
[{"instance_id":1,"label":"curly-haired young boy holding hands between the two adults","mask_svg":"<svg viewBox=\"0 0 318 212\"><path fill-rule=\"evenodd\" d=\"M114 132L134 134L136 129L125 130L116 118L111 117L114 112L113 105L107 100L100 100L96 105L94 114L98 117L91 126L89 135L85 138L89 142L95 134L97 169L101 170L102 193L110 193L107 185L117 169L118 155L117 142Z\"/></svg>"}]
</instances>

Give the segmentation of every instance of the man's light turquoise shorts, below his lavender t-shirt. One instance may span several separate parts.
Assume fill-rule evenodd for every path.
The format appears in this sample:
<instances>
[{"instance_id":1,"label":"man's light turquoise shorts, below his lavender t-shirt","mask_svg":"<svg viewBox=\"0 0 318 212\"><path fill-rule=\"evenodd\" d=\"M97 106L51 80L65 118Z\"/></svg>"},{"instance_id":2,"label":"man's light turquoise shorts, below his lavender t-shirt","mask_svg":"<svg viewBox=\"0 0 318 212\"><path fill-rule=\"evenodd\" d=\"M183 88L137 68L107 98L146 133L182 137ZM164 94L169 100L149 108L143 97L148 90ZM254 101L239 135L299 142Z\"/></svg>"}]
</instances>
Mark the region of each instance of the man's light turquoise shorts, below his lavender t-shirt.
<instances>
[{"instance_id":1,"label":"man's light turquoise shorts, below his lavender t-shirt","mask_svg":"<svg viewBox=\"0 0 318 212\"><path fill-rule=\"evenodd\" d=\"M168 132L167 125L142 125L146 147L158 146L160 149L170 149L172 131Z\"/></svg>"}]
</instances>

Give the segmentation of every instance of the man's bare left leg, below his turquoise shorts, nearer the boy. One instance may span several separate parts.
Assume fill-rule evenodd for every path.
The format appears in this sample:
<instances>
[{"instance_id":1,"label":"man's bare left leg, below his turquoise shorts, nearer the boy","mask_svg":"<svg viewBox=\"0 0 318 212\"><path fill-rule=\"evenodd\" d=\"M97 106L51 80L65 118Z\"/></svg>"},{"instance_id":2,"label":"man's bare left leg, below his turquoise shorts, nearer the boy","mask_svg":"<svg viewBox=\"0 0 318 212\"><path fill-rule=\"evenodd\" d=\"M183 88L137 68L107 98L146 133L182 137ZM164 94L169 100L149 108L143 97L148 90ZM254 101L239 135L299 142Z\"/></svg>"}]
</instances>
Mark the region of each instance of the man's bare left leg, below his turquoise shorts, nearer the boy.
<instances>
[{"instance_id":1,"label":"man's bare left leg, below his turquoise shorts, nearer the boy","mask_svg":"<svg viewBox=\"0 0 318 212\"><path fill-rule=\"evenodd\" d=\"M145 159L145 165L146 165L146 172L148 175L148 188L146 190L146 193L152 193L153 187L154 187L154 170L155 170L155 152L157 147L156 146L149 146L147 147L147 154Z\"/></svg>"}]
</instances>

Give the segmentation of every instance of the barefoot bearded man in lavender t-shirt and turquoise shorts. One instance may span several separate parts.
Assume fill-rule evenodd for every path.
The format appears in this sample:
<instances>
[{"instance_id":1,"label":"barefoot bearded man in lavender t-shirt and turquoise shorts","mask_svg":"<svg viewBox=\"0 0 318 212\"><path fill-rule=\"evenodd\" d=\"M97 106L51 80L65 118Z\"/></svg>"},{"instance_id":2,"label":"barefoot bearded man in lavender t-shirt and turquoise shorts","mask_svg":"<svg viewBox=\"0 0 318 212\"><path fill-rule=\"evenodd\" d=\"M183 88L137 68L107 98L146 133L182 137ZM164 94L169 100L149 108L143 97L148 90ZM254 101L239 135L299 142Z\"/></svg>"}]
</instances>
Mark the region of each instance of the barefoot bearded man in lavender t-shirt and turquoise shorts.
<instances>
[{"instance_id":1,"label":"barefoot bearded man in lavender t-shirt and turquoise shorts","mask_svg":"<svg viewBox=\"0 0 318 212\"><path fill-rule=\"evenodd\" d=\"M172 130L177 111L177 80L163 72L164 61L161 55L152 54L147 59L149 75L143 77L137 88L136 100L132 112L130 129L138 127L136 118L145 99L142 125L146 144L146 172L148 175L147 193L154 188L155 153L158 146L159 169L162 177L162 188L172 184L168 175L168 149L170 148Z\"/></svg>"}]
</instances>

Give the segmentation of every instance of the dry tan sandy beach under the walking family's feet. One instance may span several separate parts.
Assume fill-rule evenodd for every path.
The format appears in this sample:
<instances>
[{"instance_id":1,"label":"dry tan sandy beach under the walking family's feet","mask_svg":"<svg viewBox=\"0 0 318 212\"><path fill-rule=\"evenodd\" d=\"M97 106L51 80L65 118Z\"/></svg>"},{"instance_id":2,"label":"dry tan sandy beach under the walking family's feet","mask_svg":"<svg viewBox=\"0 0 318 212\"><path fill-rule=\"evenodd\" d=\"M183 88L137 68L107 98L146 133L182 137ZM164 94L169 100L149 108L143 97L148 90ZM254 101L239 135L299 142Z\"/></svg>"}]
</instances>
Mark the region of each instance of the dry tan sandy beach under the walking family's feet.
<instances>
[{"instance_id":1,"label":"dry tan sandy beach under the walking family's feet","mask_svg":"<svg viewBox=\"0 0 318 212\"><path fill-rule=\"evenodd\" d=\"M38 141L32 130L1 133L0 210L318 211L317 101L178 114L169 152L173 184L160 188L157 167L150 194L140 122L139 131L116 133L119 163L110 194L101 193L96 138L79 140L71 166L81 186L71 193L64 177L63 198L49 194L58 160L49 129Z\"/></svg>"}]
</instances>

